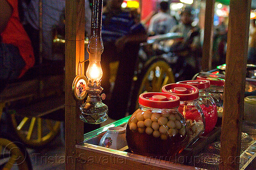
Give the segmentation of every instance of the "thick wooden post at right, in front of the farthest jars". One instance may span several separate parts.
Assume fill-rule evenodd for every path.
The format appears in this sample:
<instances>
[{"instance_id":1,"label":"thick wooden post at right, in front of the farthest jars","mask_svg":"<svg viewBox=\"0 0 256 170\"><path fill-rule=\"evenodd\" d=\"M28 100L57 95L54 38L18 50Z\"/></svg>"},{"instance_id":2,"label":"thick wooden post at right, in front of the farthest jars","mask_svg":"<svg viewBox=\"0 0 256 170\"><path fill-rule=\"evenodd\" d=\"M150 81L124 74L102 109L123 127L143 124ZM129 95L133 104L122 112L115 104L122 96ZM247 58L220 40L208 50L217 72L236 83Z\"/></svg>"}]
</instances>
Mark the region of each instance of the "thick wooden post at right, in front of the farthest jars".
<instances>
[{"instance_id":1,"label":"thick wooden post at right, in front of the farthest jars","mask_svg":"<svg viewBox=\"0 0 256 170\"><path fill-rule=\"evenodd\" d=\"M230 0L224 112L221 130L221 170L239 169L251 0Z\"/></svg>"}]
</instances>

